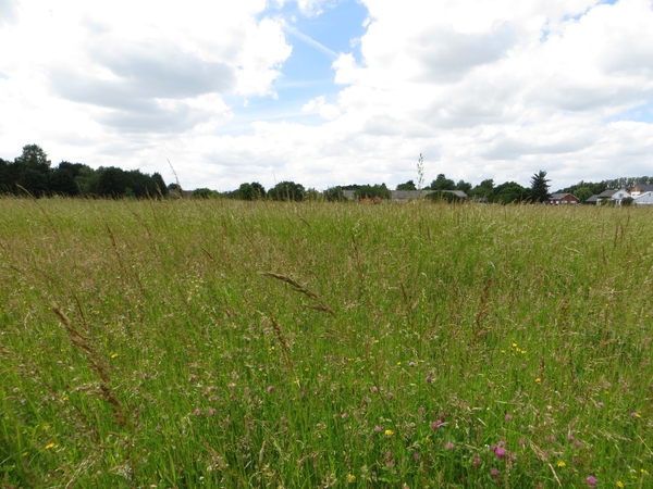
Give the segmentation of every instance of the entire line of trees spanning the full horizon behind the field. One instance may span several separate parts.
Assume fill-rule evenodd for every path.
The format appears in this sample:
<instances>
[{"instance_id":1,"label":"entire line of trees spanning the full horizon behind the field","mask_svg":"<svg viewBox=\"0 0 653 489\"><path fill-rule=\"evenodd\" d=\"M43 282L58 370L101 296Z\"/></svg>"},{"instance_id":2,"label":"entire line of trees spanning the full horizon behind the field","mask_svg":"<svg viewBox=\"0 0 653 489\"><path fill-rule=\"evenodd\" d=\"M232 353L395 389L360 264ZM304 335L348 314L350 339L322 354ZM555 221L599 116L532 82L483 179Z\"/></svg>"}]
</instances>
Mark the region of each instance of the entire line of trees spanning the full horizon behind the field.
<instances>
[{"instance_id":1,"label":"entire line of trees spanning the full horizon behind the field","mask_svg":"<svg viewBox=\"0 0 653 489\"><path fill-rule=\"evenodd\" d=\"M550 197L550 183L546 172L540 171L531 177L531 186L522 187L516 181L495 185L492 178L473 186L458 180L457 183L441 173L421 190L432 190L429 199L456 201L458 198L452 190L464 191L469 199L480 202L544 202ZM636 184L653 185L653 177L623 177L600 183L579 181L576 185L558 190L572 193L580 202L608 188L631 188ZM144 174L139 170L124 171L114 166L100 166L97 170L82 163L62 161L57 167L51 166L48 155L38 145L23 147L23 153L13 162L0 159L0 195L29 192L35 197L134 197L153 198L164 196L192 198L227 198L237 200L279 200L303 201L325 200L329 202L347 200L345 190L354 191L354 199L391 199L392 191L385 184L345 185L330 187L324 191L315 188L306 189L301 184L285 180L266 190L258 181L244 183L236 190L219 192L209 188L199 188L193 192L183 192L178 184L168 187L159 173ZM396 190L418 190L414 180L396 186Z\"/></svg>"}]
</instances>

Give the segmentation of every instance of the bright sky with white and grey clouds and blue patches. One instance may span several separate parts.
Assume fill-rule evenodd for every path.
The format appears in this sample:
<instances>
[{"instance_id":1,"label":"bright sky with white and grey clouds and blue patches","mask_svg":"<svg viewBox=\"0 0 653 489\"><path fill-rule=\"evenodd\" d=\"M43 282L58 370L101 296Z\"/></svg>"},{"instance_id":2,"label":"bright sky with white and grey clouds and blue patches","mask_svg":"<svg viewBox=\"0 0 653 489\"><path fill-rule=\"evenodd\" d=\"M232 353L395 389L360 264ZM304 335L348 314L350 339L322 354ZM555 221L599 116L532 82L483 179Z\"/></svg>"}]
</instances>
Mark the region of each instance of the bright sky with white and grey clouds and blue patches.
<instances>
[{"instance_id":1,"label":"bright sky with white and grey clouds and blue patches","mask_svg":"<svg viewBox=\"0 0 653 489\"><path fill-rule=\"evenodd\" d=\"M0 158L187 189L653 175L651 0L0 0Z\"/></svg>"}]
</instances>

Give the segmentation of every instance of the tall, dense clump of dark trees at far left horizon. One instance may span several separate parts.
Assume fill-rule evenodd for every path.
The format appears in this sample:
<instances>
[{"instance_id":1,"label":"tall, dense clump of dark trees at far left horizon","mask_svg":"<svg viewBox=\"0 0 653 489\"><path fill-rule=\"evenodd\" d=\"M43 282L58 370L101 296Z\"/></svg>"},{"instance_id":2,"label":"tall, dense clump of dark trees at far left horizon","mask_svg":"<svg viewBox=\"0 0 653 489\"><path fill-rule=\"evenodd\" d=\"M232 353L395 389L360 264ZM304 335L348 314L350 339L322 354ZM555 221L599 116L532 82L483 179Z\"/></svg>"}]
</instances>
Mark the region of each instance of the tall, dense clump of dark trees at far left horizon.
<instances>
[{"instance_id":1,"label":"tall, dense clump of dark trees at far left horizon","mask_svg":"<svg viewBox=\"0 0 653 489\"><path fill-rule=\"evenodd\" d=\"M156 198L168 195L159 173L125 171L115 166L97 170L82 163L62 161L52 167L38 145L23 147L13 162L0 159L0 195L28 192L34 197L134 197Z\"/></svg>"}]
</instances>

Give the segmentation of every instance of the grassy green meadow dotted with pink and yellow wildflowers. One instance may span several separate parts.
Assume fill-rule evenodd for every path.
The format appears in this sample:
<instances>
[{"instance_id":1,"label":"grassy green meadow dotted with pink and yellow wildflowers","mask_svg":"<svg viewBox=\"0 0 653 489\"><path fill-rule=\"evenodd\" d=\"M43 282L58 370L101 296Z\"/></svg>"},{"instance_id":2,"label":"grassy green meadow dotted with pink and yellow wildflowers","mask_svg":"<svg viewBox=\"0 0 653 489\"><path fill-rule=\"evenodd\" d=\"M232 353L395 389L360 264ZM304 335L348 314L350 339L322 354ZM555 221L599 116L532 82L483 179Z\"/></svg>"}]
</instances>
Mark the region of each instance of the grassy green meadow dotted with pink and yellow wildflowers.
<instances>
[{"instance_id":1,"label":"grassy green meadow dotted with pink and yellow wildflowers","mask_svg":"<svg viewBox=\"0 0 653 489\"><path fill-rule=\"evenodd\" d=\"M653 487L653 210L0 199L3 488Z\"/></svg>"}]
</instances>

